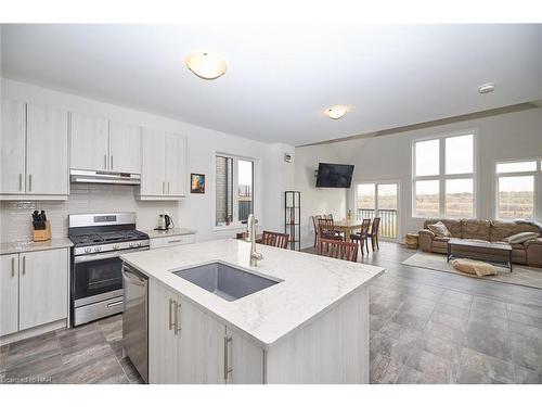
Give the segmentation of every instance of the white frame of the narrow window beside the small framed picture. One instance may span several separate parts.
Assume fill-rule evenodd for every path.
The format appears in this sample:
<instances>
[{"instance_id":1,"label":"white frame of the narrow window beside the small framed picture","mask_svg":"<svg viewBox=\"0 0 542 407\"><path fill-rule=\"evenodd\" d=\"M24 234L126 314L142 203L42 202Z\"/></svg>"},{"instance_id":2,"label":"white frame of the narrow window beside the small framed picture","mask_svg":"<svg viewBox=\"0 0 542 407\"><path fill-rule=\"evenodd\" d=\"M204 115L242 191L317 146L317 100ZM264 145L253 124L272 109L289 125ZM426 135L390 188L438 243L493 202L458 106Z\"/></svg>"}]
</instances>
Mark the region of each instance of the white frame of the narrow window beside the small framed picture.
<instances>
[{"instance_id":1,"label":"white frame of the narrow window beside the small framed picture","mask_svg":"<svg viewBox=\"0 0 542 407\"><path fill-rule=\"evenodd\" d=\"M233 185L234 185L234 193L233 193L233 219L230 225L217 225L217 157L224 157L224 158L232 158L233 160ZM251 199L253 199L253 213L255 211L255 205L256 205L256 189L255 189L255 183L256 183L256 165L258 160L254 157L248 157L244 155L237 155L237 154L231 154L231 153L222 153L220 151L216 151L214 156L212 156L212 175L214 175L214 180L215 185L212 188L212 193L214 193L214 199L212 199L212 207L214 207L214 214L212 214L212 229L215 231L220 231L220 230L228 230L228 229L245 229L246 225L242 224L241 220L238 220L238 196L237 196L237 189L238 189L238 165L237 161L249 161L253 163L253 186L251 186Z\"/></svg>"}]
</instances>

